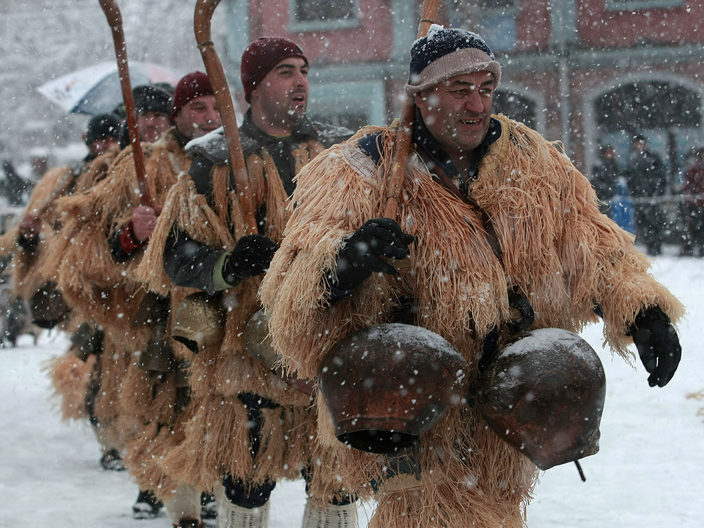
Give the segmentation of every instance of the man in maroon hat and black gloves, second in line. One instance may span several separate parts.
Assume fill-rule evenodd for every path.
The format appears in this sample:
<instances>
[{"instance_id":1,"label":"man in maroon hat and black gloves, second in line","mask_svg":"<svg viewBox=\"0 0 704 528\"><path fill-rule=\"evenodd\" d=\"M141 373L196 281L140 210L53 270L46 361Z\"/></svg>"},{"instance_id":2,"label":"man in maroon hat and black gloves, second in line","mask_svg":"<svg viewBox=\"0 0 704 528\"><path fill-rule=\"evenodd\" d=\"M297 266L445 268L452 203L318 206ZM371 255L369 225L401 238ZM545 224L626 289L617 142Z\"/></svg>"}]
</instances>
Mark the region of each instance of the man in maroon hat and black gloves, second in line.
<instances>
[{"instance_id":1,"label":"man in maroon hat and black gloves, second in line","mask_svg":"<svg viewBox=\"0 0 704 528\"><path fill-rule=\"evenodd\" d=\"M309 496L304 526L356 525L356 503L340 489L334 459L312 451L310 391L296 391L272 365L251 357L243 337L260 308L260 275L282 237L296 172L351 135L306 118L307 75L308 59L294 42L263 37L249 44L241 80L251 108L239 137L250 186L234 188L220 131L191 142L190 177L172 189L145 259L154 268L142 273L158 288L166 279L153 270L161 267L175 284L211 294L227 313L224 337L194 343L194 416L183 441L161 461L196 486L222 482L215 486L221 528L266 527L276 482L298 478L301 470ZM256 201L254 234L246 231L246 196L238 192Z\"/></svg>"}]
</instances>

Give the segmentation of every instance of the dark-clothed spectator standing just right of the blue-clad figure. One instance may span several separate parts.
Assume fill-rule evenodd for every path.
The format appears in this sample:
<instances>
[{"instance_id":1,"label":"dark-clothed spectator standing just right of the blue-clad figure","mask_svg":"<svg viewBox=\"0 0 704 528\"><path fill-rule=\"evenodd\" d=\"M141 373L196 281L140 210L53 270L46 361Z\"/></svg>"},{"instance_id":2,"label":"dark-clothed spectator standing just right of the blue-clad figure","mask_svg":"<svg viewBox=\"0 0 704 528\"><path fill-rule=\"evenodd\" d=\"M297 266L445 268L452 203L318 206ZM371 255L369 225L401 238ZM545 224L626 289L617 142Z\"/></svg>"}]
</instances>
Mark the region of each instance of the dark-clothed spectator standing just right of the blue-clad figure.
<instances>
[{"instance_id":1,"label":"dark-clothed spectator standing just right of the blue-clad figure","mask_svg":"<svg viewBox=\"0 0 704 528\"><path fill-rule=\"evenodd\" d=\"M639 134L631 141L627 184L635 202L636 240L646 245L649 255L659 255L666 220L660 196L667 189L667 168Z\"/></svg>"}]
</instances>

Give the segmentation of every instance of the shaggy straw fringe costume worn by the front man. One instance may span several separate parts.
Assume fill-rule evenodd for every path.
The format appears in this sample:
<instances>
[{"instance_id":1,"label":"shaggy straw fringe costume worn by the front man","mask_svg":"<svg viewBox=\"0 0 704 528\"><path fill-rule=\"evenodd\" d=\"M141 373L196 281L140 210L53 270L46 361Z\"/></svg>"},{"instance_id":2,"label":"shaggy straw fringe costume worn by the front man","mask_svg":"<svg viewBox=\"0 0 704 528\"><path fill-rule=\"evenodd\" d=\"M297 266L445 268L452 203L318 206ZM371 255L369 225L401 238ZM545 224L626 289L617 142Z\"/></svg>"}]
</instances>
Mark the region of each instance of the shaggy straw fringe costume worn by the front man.
<instances>
[{"instance_id":1,"label":"shaggy straw fringe costume worn by the front man","mask_svg":"<svg viewBox=\"0 0 704 528\"><path fill-rule=\"evenodd\" d=\"M296 208L260 290L275 348L291 372L315 377L329 348L360 328L391 322L403 296L415 301L412 324L463 354L470 387L484 337L510 320L510 287L532 303L534 329L579 332L598 320L593 310L601 306L605 344L624 358L631 356L627 327L642 308L659 306L679 318L679 301L648 275L650 262L631 236L599 213L589 181L561 146L518 122L494 119L501 136L479 161L469 195L494 225L503 265L480 211L434 181L412 151L394 220L417 245L398 276L374 273L331 306L325 274L335 269L342 241L365 220L384 216L396 130L367 127L299 173ZM370 134L377 134L379 163L358 148ZM383 481L391 463L343 446L322 399L317 403L320 438L336 449L344 484L370 493L370 479ZM382 484L370 527L523 526L536 467L486 427L471 388L465 404L421 437L420 460L422 482L401 474Z\"/></svg>"}]
</instances>

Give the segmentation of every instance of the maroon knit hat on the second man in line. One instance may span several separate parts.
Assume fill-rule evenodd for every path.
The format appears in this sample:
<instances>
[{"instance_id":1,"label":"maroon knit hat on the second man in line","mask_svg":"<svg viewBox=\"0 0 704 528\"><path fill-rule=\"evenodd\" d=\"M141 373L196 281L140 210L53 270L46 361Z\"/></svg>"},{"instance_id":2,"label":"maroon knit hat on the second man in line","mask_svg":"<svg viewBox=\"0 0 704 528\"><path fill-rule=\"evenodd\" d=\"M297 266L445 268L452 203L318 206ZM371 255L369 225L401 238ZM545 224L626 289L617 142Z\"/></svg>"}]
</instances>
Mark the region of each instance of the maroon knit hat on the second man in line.
<instances>
[{"instance_id":1,"label":"maroon knit hat on the second man in line","mask_svg":"<svg viewBox=\"0 0 704 528\"><path fill-rule=\"evenodd\" d=\"M282 37L259 37L247 46L242 54L241 77L244 87L244 99L249 103L249 96L257 84L266 77L272 68L288 57L300 57L306 61L303 50L295 42Z\"/></svg>"}]
</instances>

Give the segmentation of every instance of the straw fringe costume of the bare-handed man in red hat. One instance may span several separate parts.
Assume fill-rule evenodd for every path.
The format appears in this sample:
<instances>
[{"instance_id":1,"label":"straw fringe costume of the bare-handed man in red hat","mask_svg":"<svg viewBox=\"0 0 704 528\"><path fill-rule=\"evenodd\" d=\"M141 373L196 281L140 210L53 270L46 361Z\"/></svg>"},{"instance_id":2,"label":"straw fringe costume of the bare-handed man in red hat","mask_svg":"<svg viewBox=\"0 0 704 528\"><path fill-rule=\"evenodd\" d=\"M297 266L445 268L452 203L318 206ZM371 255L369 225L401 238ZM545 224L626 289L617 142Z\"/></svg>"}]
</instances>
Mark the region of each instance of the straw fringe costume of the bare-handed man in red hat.
<instances>
[{"instance_id":1,"label":"straw fringe costume of the bare-handed man in red hat","mask_svg":"<svg viewBox=\"0 0 704 528\"><path fill-rule=\"evenodd\" d=\"M163 203L190 158L171 129L155 143L144 144L147 188L153 203ZM124 258L115 258L115 244L141 205L132 147L111 166L109 177L89 192L61 202L67 220L64 239L70 241L61 257L59 286L80 313L101 325L104 351L96 370L100 390L95 413L101 423L118 424L127 450L125 465L141 489L159 491L164 498L179 483L153 463L151 444L161 425L172 424L182 413L177 398L175 370L156 373L137 364L150 353L156 327L140 321L149 308L135 270L144 253L137 247ZM167 332L168 334L168 332ZM170 340L169 340L170 341ZM170 341L172 346L180 346ZM163 427L168 431L168 427ZM161 497L160 497L161 498Z\"/></svg>"}]
</instances>

